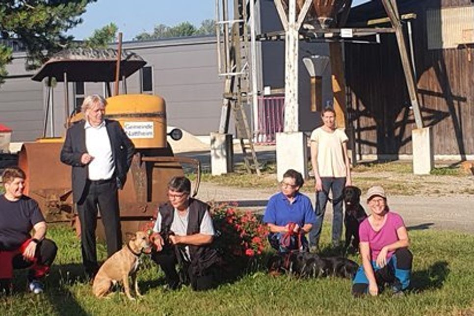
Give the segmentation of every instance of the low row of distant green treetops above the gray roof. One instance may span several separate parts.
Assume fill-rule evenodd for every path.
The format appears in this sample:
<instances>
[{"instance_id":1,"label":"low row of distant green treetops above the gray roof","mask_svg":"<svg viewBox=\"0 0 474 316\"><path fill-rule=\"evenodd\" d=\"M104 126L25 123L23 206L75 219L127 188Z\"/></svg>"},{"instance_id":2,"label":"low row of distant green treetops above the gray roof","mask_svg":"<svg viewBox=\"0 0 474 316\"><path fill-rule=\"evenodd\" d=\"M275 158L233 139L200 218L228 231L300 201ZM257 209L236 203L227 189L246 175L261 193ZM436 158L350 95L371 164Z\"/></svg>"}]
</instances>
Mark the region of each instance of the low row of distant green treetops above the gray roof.
<instances>
[{"instance_id":1,"label":"low row of distant green treetops above the gray roof","mask_svg":"<svg viewBox=\"0 0 474 316\"><path fill-rule=\"evenodd\" d=\"M214 20L208 19L201 22L201 26L197 28L189 22L182 22L176 26L166 26L157 24L153 33L143 32L135 36L136 41L154 40L160 38L197 36L197 35L213 35L215 34Z\"/></svg>"}]
</instances>

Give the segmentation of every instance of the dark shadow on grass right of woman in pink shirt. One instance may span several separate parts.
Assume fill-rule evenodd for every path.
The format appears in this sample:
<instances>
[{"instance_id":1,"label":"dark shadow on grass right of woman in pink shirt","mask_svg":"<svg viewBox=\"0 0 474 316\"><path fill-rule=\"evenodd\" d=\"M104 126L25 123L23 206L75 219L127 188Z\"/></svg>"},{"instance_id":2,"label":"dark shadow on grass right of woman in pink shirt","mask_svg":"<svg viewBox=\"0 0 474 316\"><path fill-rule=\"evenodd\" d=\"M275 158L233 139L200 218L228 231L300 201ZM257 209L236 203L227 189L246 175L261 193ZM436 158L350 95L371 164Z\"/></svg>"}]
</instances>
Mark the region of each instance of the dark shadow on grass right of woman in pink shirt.
<instances>
[{"instance_id":1,"label":"dark shadow on grass right of woman in pink shirt","mask_svg":"<svg viewBox=\"0 0 474 316\"><path fill-rule=\"evenodd\" d=\"M425 270L414 271L411 278L411 289L415 292L441 289L449 272L446 261L438 261Z\"/></svg>"}]
</instances>

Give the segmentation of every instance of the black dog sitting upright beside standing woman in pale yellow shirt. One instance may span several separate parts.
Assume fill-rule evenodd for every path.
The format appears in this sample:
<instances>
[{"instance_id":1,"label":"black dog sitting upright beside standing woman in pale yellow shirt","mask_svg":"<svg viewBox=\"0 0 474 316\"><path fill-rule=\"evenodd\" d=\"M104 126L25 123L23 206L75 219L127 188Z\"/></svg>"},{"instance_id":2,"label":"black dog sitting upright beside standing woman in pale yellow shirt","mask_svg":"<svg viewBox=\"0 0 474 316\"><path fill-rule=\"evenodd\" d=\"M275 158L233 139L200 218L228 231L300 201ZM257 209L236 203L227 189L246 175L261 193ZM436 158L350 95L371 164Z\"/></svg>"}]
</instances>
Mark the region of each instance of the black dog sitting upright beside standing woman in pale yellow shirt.
<instances>
[{"instance_id":1,"label":"black dog sitting upright beside standing woman in pale yellow shirt","mask_svg":"<svg viewBox=\"0 0 474 316\"><path fill-rule=\"evenodd\" d=\"M346 186L342 191L344 200L345 216L345 244L344 249L347 250L352 240L352 248L357 251L359 249L359 226L361 222L367 218L366 211L361 205L361 189L357 186Z\"/></svg>"}]
</instances>

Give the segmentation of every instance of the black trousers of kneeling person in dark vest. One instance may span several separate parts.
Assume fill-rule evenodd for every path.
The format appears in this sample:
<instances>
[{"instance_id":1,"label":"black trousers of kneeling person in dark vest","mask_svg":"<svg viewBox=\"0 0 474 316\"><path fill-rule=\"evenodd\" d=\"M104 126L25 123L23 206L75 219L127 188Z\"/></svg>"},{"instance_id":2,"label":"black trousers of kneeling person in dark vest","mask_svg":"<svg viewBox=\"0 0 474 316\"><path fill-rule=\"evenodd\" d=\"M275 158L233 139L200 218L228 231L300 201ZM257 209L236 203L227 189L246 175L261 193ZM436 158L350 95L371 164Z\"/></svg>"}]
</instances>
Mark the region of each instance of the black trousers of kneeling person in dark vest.
<instances>
[{"instance_id":1,"label":"black trousers of kneeling person in dark vest","mask_svg":"<svg viewBox=\"0 0 474 316\"><path fill-rule=\"evenodd\" d=\"M182 263L181 269L185 275L180 279L180 276L176 271L178 258L174 246L164 247L163 250L159 252L153 250L152 259L158 263L160 268L163 270L166 282L171 289L178 288L180 281L184 281L181 280L183 278L189 280L193 290L209 290L216 285L214 274L212 273L211 269L208 269L208 271L201 271L202 273L197 275L194 272L191 272L191 269L189 269L190 264L184 263L182 258L180 258L180 263Z\"/></svg>"}]
</instances>

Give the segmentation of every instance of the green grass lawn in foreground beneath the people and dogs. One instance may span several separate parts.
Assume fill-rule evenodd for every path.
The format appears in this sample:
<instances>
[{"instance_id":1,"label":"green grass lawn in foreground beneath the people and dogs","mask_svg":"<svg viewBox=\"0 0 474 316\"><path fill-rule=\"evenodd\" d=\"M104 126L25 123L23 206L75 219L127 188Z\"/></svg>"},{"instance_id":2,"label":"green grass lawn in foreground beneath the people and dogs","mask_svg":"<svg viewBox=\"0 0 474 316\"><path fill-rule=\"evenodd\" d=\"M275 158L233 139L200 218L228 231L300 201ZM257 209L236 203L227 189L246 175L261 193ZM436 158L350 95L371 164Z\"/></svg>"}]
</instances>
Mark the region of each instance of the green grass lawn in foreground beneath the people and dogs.
<instances>
[{"instance_id":1,"label":"green grass lawn in foreground beneath the people and dogs","mask_svg":"<svg viewBox=\"0 0 474 316\"><path fill-rule=\"evenodd\" d=\"M323 241L329 240L325 226ZM435 230L410 231L414 253L413 289L405 296L353 298L351 282L326 278L271 277L262 264L232 284L194 292L185 287L164 291L163 276L144 260L139 285L145 296L129 301L114 293L96 299L78 280L79 241L66 227L52 227L49 237L59 253L41 295L26 293L25 272L17 273L15 294L0 298L0 315L473 315L474 236ZM104 258L105 249L99 252ZM356 259L356 258L353 258ZM358 259L356 259L358 261Z\"/></svg>"}]
</instances>

